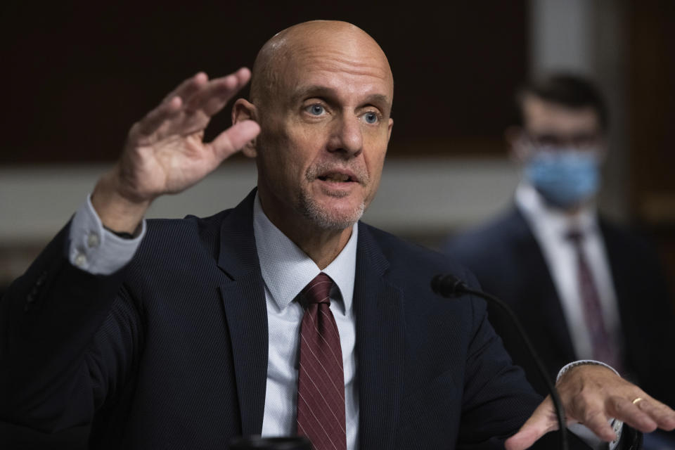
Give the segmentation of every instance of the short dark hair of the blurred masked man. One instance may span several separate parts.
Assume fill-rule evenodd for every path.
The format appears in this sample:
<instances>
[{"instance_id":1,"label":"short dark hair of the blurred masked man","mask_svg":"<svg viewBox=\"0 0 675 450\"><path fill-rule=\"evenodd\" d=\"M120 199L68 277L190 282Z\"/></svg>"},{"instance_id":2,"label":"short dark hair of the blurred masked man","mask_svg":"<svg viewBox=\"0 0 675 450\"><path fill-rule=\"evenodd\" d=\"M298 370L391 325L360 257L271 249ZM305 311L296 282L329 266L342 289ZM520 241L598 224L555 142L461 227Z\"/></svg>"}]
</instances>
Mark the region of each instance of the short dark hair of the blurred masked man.
<instances>
[{"instance_id":1,"label":"short dark hair of the blurred masked man","mask_svg":"<svg viewBox=\"0 0 675 450\"><path fill-rule=\"evenodd\" d=\"M520 127L525 126L523 102L528 95L568 108L591 107L598 114L600 127L609 125L607 105L603 95L589 79L570 73L555 73L527 82L515 96L515 119Z\"/></svg>"}]
</instances>

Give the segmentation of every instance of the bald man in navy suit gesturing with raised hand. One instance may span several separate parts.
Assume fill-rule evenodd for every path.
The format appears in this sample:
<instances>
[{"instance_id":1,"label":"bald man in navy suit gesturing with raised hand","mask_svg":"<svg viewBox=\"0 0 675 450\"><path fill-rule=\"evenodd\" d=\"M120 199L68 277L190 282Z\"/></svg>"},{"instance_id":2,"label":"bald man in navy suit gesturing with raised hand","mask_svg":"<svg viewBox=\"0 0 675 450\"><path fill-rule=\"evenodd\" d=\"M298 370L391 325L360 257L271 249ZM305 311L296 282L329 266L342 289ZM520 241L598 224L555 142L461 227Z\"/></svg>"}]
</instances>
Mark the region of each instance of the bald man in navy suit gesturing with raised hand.
<instances>
[{"instance_id":1,"label":"bald man in navy suit gesturing with raised hand","mask_svg":"<svg viewBox=\"0 0 675 450\"><path fill-rule=\"evenodd\" d=\"M206 143L250 77L186 80L129 131L115 167L0 307L0 413L46 431L91 423L93 448L222 449L238 435L306 435L316 449L500 448L541 401L482 302L446 301L460 266L359 222L392 131L392 73L354 25L316 21L268 41L250 101ZM148 220L238 149L257 189L212 217ZM610 369L559 390L606 440L675 413ZM555 428L550 401L506 442Z\"/></svg>"}]
</instances>

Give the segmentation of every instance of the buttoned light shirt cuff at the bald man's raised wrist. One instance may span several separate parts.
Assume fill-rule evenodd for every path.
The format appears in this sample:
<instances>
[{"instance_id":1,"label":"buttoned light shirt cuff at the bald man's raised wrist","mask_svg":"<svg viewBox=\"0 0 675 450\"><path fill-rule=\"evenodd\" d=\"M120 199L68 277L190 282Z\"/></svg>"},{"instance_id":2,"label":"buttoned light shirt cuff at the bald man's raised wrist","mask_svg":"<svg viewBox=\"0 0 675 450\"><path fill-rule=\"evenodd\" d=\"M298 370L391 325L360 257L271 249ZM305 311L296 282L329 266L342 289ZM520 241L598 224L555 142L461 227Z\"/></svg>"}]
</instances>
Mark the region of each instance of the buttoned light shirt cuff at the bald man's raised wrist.
<instances>
[{"instance_id":1,"label":"buttoned light shirt cuff at the bald man's raised wrist","mask_svg":"<svg viewBox=\"0 0 675 450\"><path fill-rule=\"evenodd\" d=\"M91 205L91 195L87 195L70 222L68 260L90 274L114 274L131 261L145 235L145 220L141 222L141 233L133 239L120 238L103 228Z\"/></svg>"}]
</instances>

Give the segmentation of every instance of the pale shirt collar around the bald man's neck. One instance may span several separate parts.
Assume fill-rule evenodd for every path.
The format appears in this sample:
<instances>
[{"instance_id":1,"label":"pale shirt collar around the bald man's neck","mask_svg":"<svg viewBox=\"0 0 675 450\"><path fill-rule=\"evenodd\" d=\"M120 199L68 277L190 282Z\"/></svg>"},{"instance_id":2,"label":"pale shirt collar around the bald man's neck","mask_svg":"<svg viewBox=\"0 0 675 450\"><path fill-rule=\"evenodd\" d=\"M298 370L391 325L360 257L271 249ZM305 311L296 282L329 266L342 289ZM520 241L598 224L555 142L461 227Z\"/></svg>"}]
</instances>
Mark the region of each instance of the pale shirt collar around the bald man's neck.
<instances>
[{"instance_id":1,"label":"pale shirt collar around the bald man's neck","mask_svg":"<svg viewBox=\"0 0 675 450\"><path fill-rule=\"evenodd\" d=\"M326 269L323 269L323 273L330 276L338 287L344 302L345 314L352 308L354 296L358 234L358 224L354 224L352 236L349 237L345 248ZM253 235L265 285L277 307L285 309L300 291L321 273L321 270L268 219L262 210L257 193L253 203Z\"/></svg>"}]
</instances>

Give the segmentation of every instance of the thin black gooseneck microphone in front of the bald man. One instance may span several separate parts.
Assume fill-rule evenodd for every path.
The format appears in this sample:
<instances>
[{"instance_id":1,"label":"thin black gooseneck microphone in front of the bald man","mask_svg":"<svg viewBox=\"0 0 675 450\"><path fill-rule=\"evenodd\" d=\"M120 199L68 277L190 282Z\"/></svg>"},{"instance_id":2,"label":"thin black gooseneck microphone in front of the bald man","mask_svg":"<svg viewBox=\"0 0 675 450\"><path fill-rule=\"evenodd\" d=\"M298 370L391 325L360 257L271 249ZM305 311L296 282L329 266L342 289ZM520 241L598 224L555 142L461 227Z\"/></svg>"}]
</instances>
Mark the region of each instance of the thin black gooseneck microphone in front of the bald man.
<instances>
[{"instance_id":1,"label":"thin black gooseneck microphone in front of the bald man","mask_svg":"<svg viewBox=\"0 0 675 450\"><path fill-rule=\"evenodd\" d=\"M544 363L541 361L541 358L539 358L539 355L534 351L534 346L527 337L525 328L522 328L522 324L520 323L520 320L518 320L518 316L516 316L515 312L513 312L513 309L511 309L508 304L499 300L499 298L495 297L494 295L484 293L482 290L470 288L466 283L464 283L464 281L462 281L461 278L458 278L453 274L438 274L434 276L434 278L431 279L431 288L435 293L446 298L454 298L462 294L475 295L477 297L481 297L484 300L487 300L491 304L496 304L496 306L506 313L510 321L513 322L515 328L518 330L518 334L520 335L522 342L525 342L527 352L529 352L530 356L532 356L532 359L534 359L534 363L536 364L536 368L539 371L539 375L541 375L541 378L544 379L544 382L546 383L546 387L548 387L548 393L551 394L553 406L555 406L555 413L556 416L558 416L558 427L560 428L560 449L567 450L567 427L565 425L565 411L563 410L563 402L560 401L558 391L555 390L553 381L551 381L548 373L546 373L546 367L544 366Z\"/></svg>"}]
</instances>

